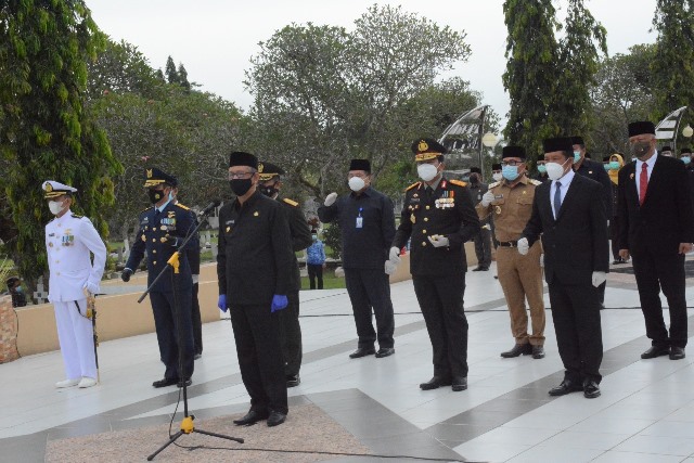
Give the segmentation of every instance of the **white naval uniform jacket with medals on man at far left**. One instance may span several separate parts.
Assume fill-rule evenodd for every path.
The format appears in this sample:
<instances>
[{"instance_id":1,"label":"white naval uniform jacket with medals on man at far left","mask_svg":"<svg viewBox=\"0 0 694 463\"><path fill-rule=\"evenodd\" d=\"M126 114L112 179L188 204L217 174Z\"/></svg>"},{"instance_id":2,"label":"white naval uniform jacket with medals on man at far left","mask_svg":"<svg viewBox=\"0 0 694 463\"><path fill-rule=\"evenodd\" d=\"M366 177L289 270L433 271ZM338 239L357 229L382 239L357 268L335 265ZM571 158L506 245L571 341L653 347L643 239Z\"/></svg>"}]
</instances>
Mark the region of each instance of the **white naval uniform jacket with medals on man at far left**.
<instances>
[{"instance_id":1,"label":"white naval uniform jacket with medals on man at far left","mask_svg":"<svg viewBox=\"0 0 694 463\"><path fill-rule=\"evenodd\" d=\"M87 281L99 287L106 265L106 246L87 217L68 210L48 222L46 249L50 270L48 300L83 299ZM93 263L90 252L94 255Z\"/></svg>"}]
</instances>

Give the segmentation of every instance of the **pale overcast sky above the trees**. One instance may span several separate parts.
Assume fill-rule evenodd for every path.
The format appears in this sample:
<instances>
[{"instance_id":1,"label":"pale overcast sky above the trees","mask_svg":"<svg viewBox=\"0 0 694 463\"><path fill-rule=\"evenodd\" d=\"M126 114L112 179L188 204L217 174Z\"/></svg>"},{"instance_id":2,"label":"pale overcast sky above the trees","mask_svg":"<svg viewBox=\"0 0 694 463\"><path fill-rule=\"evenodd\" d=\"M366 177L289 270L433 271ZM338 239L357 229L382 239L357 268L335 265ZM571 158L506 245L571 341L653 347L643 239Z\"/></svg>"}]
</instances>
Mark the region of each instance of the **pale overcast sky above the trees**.
<instances>
[{"instance_id":1,"label":"pale overcast sky above the trees","mask_svg":"<svg viewBox=\"0 0 694 463\"><path fill-rule=\"evenodd\" d=\"M86 0L98 26L115 41L126 40L164 69L171 55L183 63L190 81L247 110L253 97L244 90L250 56L275 30L288 24L343 26L374 3L401 5L439 26L466 34L472 55L442 77L460 76L483 92L484 103L505 119L509 95L501 76L505 69L506 28L503 0ZM558 18L566 0L555 0ZM586 0L586 7L607 29L609 55L629 47L652 43L650 31L656 0Z\"/></svg>"}]
</instances>

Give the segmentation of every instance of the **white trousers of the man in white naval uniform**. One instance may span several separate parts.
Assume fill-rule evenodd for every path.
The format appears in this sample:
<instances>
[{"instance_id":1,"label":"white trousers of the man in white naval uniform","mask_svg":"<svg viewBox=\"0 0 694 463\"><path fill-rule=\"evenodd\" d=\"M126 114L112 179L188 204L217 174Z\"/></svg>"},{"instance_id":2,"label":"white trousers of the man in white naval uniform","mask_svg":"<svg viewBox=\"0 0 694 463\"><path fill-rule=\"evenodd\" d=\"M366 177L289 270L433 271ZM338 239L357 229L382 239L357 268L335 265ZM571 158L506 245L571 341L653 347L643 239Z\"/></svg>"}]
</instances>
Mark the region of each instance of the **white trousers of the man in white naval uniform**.
<instances>
[{"instance_id":1,"label":"white trousers of the man in white naval uniform","mask_svg":"<svg viewBox=\"0 0 694 463\"><path fill-rule=\"evenodd\" d=\"M79 299L79 310L87 313L87 299ZM82 376L97 380L94 338L91 320L80 316L74 301L53 303L57 338L61 343L65 376L78 380Z\"/></svg>"}]
</instances>

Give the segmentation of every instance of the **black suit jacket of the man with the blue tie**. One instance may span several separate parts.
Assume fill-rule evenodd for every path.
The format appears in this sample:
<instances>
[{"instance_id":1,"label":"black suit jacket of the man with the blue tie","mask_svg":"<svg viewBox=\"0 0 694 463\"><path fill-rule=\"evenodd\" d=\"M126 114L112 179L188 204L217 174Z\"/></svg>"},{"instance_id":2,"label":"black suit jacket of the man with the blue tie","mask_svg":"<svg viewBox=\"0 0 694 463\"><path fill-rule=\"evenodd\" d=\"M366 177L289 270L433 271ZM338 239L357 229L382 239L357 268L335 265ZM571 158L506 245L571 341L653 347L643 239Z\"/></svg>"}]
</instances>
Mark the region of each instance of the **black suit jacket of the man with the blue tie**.
<instances>
[{"instance_id":1,"label":"black suit jacket of the man with the blue tie","mask_svg":"<svg viewBox=\"0 0 694 463\"><path fill-rule=\"evenodd\" d=\"M591 285L594 271L609 271L603 187L574 175L556 220L550 204L551 189L552 182L537 188L523 235L532 245L542 234L544 279L549 284L557 278L563 284Z\"/></svg>"}]
</instances>

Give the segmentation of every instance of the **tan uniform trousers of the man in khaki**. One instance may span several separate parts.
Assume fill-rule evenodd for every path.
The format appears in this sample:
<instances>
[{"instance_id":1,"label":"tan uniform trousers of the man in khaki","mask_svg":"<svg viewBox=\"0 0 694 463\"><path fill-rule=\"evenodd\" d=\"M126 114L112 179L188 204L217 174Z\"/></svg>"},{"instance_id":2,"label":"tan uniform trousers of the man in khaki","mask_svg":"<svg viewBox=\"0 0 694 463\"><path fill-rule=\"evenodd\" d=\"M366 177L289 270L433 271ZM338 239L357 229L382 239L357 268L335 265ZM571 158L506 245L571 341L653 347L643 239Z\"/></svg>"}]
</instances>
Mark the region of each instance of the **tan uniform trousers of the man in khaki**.
<instances>
[{"instance_id":1,"label":"tan uniform trousers of the man in khaki","mask_svg":"<svg viewBox=\"0 0 694 463\"><path fill-rule=\"evenodd\" d=\"M515 247L497 248L499 283L509 306L511 333L516 344L544 345L544 300L542 299L542 247L537 241L527 255L522 256ZM530 306L532 333L528 335L528 314L525 299Z\"/></svg>"}]
</instances>

